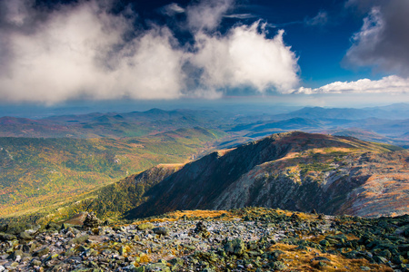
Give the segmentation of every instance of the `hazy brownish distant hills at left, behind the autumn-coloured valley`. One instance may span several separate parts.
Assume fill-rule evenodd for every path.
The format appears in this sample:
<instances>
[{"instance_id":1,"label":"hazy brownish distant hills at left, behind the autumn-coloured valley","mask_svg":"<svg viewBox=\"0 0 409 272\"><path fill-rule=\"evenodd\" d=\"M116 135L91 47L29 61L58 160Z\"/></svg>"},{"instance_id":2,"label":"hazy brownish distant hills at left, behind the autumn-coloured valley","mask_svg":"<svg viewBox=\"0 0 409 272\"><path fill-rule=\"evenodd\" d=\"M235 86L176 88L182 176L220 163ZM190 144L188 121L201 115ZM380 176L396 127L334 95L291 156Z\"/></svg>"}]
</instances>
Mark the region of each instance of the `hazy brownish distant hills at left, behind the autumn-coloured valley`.
<instances>
[{"instance_id":1,"label":"hazy brownish distant hills at left, behind the autumn-coloured valley","mask_svg":"<svg viewBox=\"0 0 409 272\"><path fill-rule=\"evenodd\" d=\"M31 138L123 138L203 126L223 128L233 117L224 112L152 109L146 112L93 112L62 115L39 120L0 118L0 137Z\"/></svg>"}]
</instances>

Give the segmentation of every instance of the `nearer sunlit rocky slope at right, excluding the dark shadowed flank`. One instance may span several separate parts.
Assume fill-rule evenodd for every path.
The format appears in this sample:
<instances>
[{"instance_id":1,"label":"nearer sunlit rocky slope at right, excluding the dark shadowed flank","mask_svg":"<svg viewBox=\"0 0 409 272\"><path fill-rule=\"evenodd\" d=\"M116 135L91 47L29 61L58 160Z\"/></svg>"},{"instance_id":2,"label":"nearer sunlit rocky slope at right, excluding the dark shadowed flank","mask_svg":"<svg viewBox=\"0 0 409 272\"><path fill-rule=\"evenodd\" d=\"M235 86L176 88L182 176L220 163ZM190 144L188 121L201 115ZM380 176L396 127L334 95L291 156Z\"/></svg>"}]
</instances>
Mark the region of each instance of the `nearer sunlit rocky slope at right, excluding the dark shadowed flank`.
<instances>
[{"instance_id":1,"label":"nearer sunlit rocky slope at right, excluding the dark shadowed flank","mask_svg":"<svg viewBox=\"0 0 409 272\"><path fill-rule=\"evenodd\" d=\"M303 159L270 161L245 173L214 201L214 209L279 207L325 214L403 215L409 212L407 152L345 155L340 161L319 158L305 171ZM327 166L325 166L327 165ZM395 196L399 198L395 198Z\"/></svg>"}]
</instances>

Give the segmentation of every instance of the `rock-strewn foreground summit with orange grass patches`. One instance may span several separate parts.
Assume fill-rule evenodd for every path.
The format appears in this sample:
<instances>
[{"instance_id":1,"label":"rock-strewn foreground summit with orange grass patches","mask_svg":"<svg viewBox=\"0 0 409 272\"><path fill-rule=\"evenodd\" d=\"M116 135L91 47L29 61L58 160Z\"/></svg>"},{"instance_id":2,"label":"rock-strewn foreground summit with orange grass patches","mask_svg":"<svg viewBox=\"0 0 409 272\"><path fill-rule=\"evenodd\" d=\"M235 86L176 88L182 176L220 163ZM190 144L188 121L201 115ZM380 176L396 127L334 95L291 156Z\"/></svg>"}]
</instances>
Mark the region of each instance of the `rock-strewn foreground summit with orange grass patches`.
<instances>
[{"instance_id":1,"label":"rock-strewn foreground summit with orange grass patches","mask_svg":"<svg viewBox=\"0 0 409 272\"><path fill-rule=\"evenodd\" d=\"M3 226L0 271L409 271L408 216L246 208L86 225Z\"/></svg>"}]
</instances>

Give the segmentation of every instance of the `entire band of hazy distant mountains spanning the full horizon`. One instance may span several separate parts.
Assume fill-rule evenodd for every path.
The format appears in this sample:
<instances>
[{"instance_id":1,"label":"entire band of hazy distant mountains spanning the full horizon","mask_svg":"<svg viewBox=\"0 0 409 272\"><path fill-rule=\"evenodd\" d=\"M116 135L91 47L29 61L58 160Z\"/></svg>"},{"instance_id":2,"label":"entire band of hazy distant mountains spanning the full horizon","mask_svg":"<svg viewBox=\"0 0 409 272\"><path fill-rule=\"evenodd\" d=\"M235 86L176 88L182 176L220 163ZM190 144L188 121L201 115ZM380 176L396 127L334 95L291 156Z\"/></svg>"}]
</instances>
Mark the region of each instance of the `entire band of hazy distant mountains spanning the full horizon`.
<instances>
[{"instance_id":1,"label":"entire band of hazy distant mountains spanning the full horizon","mask_svg":"<svg viewBox=\"0 0 409 272\"><path fill-rule=\"evenodd\" d=\"M164 131L201 126L232 134L239 143L276 132L308 131L333 133L349 131L350 135L371 141L365 133L377 133L377 141L409 146L409 105L394 104L364 109L305 107L282 114L248 115L233 112L151 109L146 112L93 112L62 115L39 120L2 117L0 136L34 138L123 138L141 137Z\"/></svg>"}]
</instances>

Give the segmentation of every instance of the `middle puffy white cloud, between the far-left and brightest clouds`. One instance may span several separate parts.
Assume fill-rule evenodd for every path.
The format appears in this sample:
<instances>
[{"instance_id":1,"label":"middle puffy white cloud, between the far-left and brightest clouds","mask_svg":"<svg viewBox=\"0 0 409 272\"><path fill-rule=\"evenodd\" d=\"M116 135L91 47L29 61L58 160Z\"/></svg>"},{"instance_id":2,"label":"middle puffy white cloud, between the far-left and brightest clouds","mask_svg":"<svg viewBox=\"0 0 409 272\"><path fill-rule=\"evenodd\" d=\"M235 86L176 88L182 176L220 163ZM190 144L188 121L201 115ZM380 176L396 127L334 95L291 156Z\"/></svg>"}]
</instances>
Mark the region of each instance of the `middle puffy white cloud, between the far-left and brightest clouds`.
<instances>
[{"instance_id":1,"label":"middle puffy white cloud, between the far-left and brightest clouds","mask_svg":"<svg viewBox=\"0 0 409 272\"><path fill-rule=\"evenodd\" d=\"M134 99L175 99L182 95L185 53L174 49L166 29L151 30L126 44L111 75L112 89ZM109 90L108 90L109 91Z\"/></svg>"}]
</instances>

